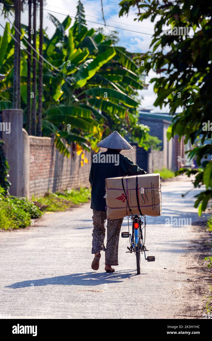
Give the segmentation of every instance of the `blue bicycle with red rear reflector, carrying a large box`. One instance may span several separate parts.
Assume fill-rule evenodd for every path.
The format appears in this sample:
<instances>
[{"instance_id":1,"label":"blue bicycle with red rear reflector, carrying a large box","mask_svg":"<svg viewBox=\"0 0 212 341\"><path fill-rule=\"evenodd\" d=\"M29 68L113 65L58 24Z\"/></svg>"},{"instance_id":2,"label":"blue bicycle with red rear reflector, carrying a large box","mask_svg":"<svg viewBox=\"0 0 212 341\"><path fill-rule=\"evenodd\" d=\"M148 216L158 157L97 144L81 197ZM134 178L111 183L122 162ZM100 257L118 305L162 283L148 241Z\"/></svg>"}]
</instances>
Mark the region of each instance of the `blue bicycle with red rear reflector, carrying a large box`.
<instances>
[{"instance_id":1,"label":"blue bicycle with red rear reflector, carrying a large box","mask_svg":"<svg viewBox=\"0 0 212 341\"><path fill-rule=\"evenodd\" d=\"M132 222L132 234L130 234L130 226L129 226L129 218L131 217ZM144 227L142 228L143 221L141 217L144 219ZM144 229L144 239L143 239L143 229ZM128 232L121 233L122 238L129 238L130 247L127 247L129 251L126 253L134 252L136 255L136 266L137 266L137 274L141 273L141 253L144 253L145 261L154 262L155 256L146 257L146 251L149 251L145 247L145 237L146 237L146 217L145 215L140 214L130 214L128 216Z\"/></svg>"}]
</instances>

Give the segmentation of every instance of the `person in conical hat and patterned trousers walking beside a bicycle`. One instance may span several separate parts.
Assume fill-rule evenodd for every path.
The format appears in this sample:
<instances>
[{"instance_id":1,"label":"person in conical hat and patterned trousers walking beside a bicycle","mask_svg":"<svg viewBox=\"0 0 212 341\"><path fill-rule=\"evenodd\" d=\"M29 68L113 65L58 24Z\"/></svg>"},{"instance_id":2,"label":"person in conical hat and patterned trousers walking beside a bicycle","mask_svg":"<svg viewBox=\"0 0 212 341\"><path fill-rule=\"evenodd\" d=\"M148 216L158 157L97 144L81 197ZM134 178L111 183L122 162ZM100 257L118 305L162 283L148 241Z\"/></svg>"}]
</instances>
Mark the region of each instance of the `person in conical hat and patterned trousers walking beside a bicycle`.
<instances>
[{"instance_id":1,"label":"person in conical hat and patterned trousers walking beside a bicycle","mask_svg":"<svg viewBox=\"0 0 212 341\"><path fill-rule=\"evenodd\" d=\"M107 219L105 210L105 179L119 176L147 174L143 169L134 164L128 157L120 154L121 150L133 147L117 131L97 144L98 147L107 148L107 151L94 155L89 174L91 189L91 209L93 209L93 240L92 254L95 254L92 269L99 269L101 251L105 251L105 271L114 272L112 266L118 265L118 242L123 218ZM108 161L108 162L107 162ZM111 162L113 161L113 162ZM105 222L107 220L107 243L104 244Z\"/></svg>"}]
</instances>

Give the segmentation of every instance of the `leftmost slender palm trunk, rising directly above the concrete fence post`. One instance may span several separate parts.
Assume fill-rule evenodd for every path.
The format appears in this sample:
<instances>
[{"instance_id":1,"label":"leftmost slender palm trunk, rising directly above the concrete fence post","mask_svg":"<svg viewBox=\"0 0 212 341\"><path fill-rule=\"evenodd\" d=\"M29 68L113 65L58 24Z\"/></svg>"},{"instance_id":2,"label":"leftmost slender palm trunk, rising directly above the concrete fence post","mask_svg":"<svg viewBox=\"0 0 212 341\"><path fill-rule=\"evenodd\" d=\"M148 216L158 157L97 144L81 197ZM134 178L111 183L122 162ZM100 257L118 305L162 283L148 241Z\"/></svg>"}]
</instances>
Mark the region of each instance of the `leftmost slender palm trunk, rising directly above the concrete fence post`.
<instances>
[{"instance_id":1,"label":"leftmost slender palm trunk, rising directly above the concrete fence post","mask_svg":"<svg viewBox=\"0 0 212 341\"><path fill-rule=\"evenodd\" d=\"M18 8L19 2L15 1L15 26L18 27ZM18 32L15 30L15 41L14 41L14 60L13 60L13 109L17 109L17 73L18 73Z\"/></svg>"}]
</instances>

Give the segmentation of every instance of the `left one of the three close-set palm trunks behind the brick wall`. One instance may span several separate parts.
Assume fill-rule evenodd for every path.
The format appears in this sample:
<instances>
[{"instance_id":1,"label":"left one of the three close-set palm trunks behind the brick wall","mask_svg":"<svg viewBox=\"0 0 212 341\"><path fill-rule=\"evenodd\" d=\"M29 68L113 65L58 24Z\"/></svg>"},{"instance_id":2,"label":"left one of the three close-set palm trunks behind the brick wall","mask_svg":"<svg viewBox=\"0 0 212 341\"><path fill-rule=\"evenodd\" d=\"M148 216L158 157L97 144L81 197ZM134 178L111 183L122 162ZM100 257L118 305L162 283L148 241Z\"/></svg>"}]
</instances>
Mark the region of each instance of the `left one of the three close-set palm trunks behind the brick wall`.
<instances>
[{"instance_id":1,"label":"left one of the three close-set palm trunks behind the brick wall","mask_svg":"<svg viewBox=\"0 0 212 341\"><path fill-rule=\"evenodd\" d=\"M31 26L32 26L32 0L28 0L29 5L29 23L28 23L28 42L31 44ZM27 57L27 131L31 135L31 47L28 45Z\"/></svg>"}]
</instances>

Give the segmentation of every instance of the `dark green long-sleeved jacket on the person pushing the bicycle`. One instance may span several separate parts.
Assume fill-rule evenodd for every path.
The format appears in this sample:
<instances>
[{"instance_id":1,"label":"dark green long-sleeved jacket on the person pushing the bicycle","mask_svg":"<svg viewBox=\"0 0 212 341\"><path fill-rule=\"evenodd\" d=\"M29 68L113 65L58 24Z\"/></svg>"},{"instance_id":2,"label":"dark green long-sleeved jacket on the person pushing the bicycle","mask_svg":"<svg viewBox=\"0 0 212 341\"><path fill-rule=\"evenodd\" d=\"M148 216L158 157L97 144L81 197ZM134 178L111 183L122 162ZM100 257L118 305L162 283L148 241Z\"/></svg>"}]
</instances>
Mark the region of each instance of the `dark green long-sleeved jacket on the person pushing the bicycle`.
<instances>
[{"instance_id":1,"label":"dark green long-sleeved jacket on the person pushing the bicycle","mask_svg":"<svg viewBox=\"0 0 212 341\"><path fill-rule=\"evenodd\" d=\"M102 154L105 154L106 157L106 154L119 154L119 152L116 149L108 149ZM92 185L91 208L96 211L105 211L106 202L103 197L106 178L142 174L147 173L122 154L119 154L119 165L115 165L115 163L94 163L92 161L89 175L89 182Z\"/></svg>"}]
</instances>

